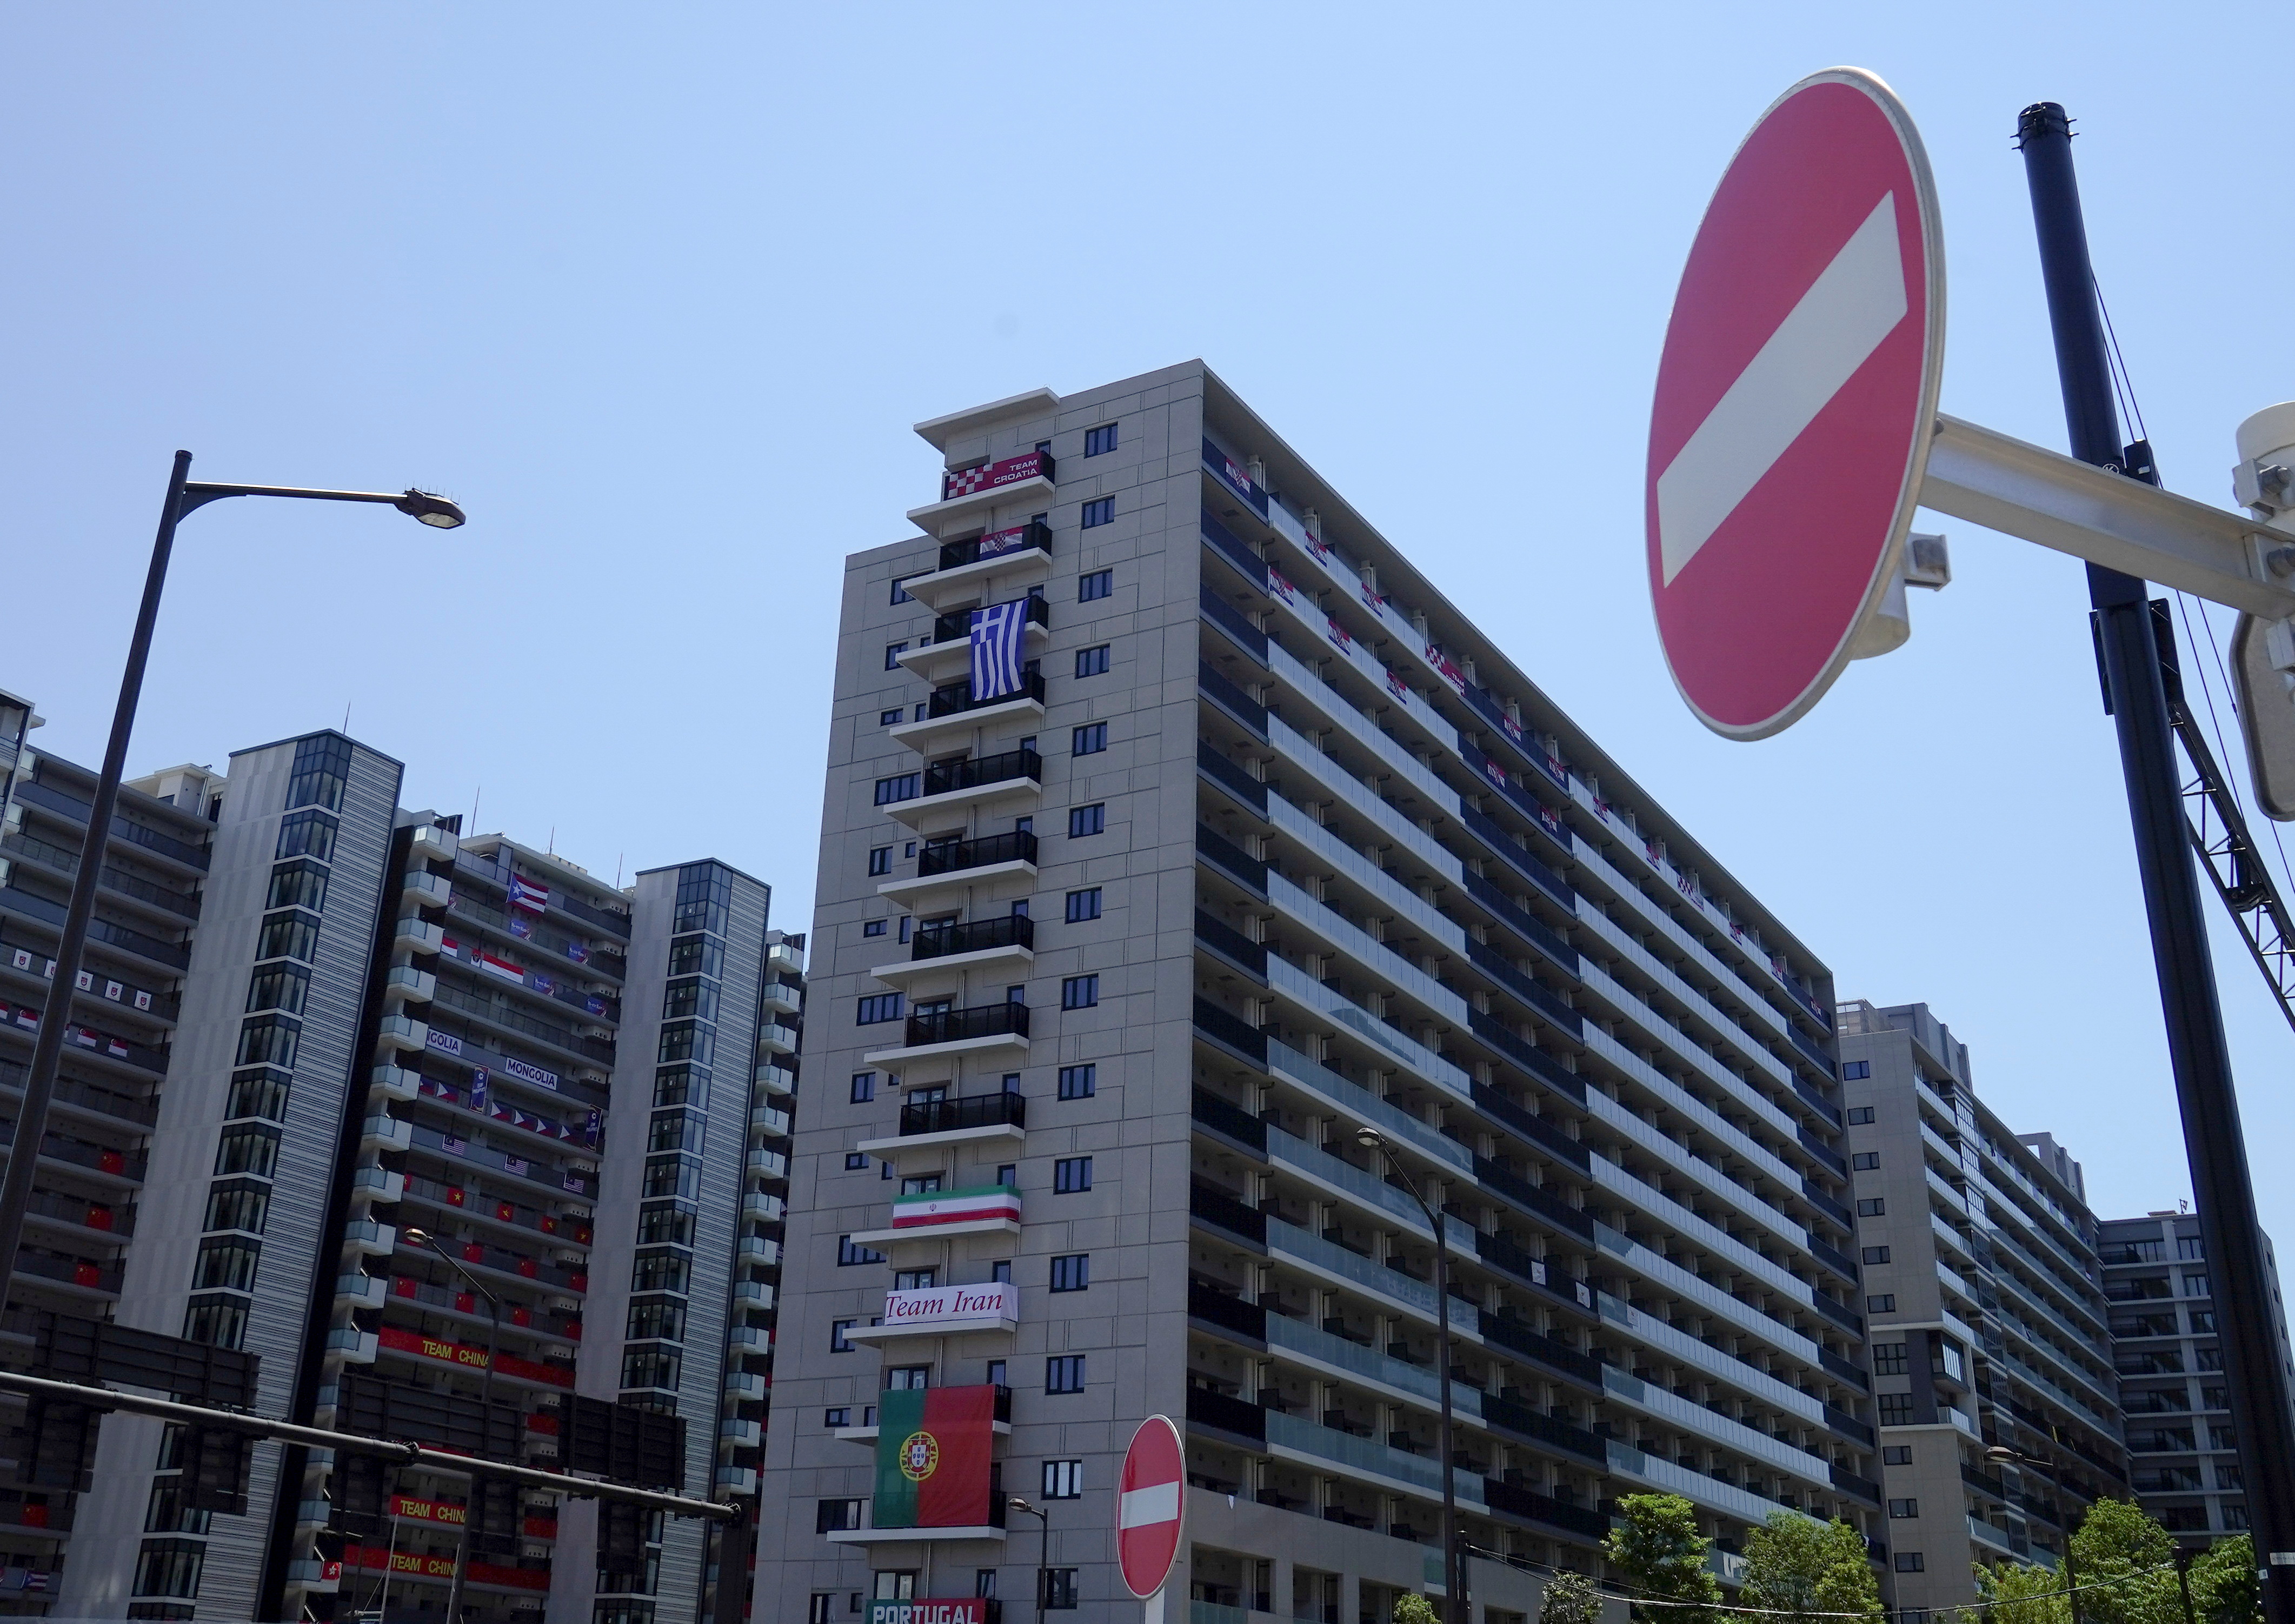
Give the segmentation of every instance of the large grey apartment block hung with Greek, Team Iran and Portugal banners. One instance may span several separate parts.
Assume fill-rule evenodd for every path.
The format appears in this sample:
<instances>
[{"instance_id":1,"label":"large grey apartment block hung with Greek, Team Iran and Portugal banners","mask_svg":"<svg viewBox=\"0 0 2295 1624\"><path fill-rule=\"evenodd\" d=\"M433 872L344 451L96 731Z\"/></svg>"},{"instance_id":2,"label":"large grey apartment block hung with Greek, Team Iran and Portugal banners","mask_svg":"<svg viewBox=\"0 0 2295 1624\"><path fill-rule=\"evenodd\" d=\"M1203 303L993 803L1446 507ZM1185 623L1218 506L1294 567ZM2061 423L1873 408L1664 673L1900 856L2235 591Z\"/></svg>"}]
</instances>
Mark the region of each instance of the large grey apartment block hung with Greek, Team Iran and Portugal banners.
<instances>
[{"instance_id":1,"label":"large grey apartment block hung with Greek, Team Iran and Portugal banners","mask_svg":"<svg viewBox=\"0 0 2295 1624\"><path fill-rule=\"evenodd\" d=\"M1157 1413L1198 1619L1439 1587L1446 1470L1485 1619L1623 1493L1724 1569L1877 1532L1825 966L1205 367L918 434L840 610L771 1617L1099 1617ZM879 1447L950 1388L978 1525Z\"/></svg>"}]
</instances>

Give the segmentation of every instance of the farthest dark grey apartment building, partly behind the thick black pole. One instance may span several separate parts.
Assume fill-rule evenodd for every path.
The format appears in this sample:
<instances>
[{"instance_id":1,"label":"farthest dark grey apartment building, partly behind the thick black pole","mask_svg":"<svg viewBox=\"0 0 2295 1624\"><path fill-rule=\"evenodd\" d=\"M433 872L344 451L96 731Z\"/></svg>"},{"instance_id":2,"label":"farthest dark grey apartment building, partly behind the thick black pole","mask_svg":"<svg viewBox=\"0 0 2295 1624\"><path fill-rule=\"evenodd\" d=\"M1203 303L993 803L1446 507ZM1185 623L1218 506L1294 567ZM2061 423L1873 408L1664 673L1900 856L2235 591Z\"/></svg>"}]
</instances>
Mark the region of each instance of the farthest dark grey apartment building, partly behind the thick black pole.
<instances>
[{"instance_id":1,"label":"farthest dark grey apartment building, partly behind the thick black pole","mask_svg":"<svg viewBox=\"0 0 2295 1624\"><path fill-rule=\"evenodd\" d=\"M2247 1532L2247 1491L2199 1216L2107 1218L2098 1225L2098 1250L2137 1502L2187 1541ZM2263 1259L2272 1271L2279 1358L2295 1367L2270 1236L2263 1236Z\"/></svg>"}]
</instances>

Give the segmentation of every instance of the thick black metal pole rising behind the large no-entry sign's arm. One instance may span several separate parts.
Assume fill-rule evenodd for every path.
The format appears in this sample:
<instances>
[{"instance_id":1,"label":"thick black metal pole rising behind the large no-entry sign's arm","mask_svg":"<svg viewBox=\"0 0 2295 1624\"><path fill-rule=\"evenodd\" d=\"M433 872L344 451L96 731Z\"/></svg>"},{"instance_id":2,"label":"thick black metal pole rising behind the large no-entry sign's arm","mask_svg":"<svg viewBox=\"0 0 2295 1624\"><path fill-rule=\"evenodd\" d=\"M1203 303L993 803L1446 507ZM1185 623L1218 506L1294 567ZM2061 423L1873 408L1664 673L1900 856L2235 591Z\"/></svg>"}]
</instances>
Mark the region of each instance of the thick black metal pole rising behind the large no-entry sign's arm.
<instances>
[{"instance_id":1,"label":"thick black metal pole rising behind the large no-entry sign's arm","mask_svg":"<svg viewBox=\"0 0 2295 1624\"><path fill-rule=\"evenodd\" d=\"M2024 108L2017 119L2017 145L2031 186L2072 456L2118 468L2125 447L2095 307L2079 181L2072 174L2072 128L2063 108L2054 101ZM2279 1363L2256 1188L2247 1170L2247 1138L2240 1131L2231 1051L2215 996L2208 920L2201 913L2199 879L2192 874L2192 849L2178 798L2160 649L2153 642L2141 580L2088 564L2088 601L2095 608L2111 718L2121 736L2121 773L2127 780L2127 814L2134 826L2144 911L2150 920L2185 1156L2192 1163L2192 1195L2199 1204L2208 1271L2215 1278L2231 1422L2263 1574L2263 1613L2270 1624L2295 1624L2295 1408L2288 1404L2288 1374Z\"/></svg>"}]
</instances>

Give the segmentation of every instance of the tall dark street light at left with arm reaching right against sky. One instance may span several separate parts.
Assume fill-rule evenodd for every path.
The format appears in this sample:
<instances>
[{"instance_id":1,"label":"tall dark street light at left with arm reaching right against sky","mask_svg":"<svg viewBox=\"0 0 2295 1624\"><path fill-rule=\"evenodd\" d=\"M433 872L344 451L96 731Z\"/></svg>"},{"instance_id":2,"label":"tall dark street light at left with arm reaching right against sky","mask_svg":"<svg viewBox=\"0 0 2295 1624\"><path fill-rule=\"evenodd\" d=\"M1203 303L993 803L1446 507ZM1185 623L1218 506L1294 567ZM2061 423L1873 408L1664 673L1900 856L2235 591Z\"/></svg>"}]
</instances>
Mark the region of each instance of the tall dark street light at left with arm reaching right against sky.
<instances>
[{"instance_id":1,"label":"tall dark street light at left with arm reaching right against sky","mask_svg":"<svg viewBox=\"0 0 2295 1624\"><path fill-rule=\"evenodd\" d=\"M454 502L429 491L305 491L285 484L195 484L190 452L174 454L174 473L168 475L168 498L158 509L158 537L151 541L151 569L145 573L142 606L135 610L135 633L129 638L129 663L119 674L119 704L112 711L112 736L103 748L103 773L96 778L96 798L87 810L87 837L80 842L80 869L71 876L71 904L64 908L64 936L55 945L55 991L39 1021L39 1041L32 1046L32 1069L23 1080L23 1108L16 1112L16 1140L7 1158L7 1179L0 1179L0 1317L7 1314L9 1287L16 1280L16 1252L23 1250L23 1220L32 1211L32 1177L39 1163L39 1145L48 1135L48 1106L55 1101L55 1071L64 1055L64 1028L71 1023L71 1005L80 986L80 959L87 950L87 922L96 911L96 885L103 876L103 849L112 833L112 814L119 807L119 778L126 771L129 734L135 732L135 702L142 697L145 663L151 656L151 626L158 622L161 587L168 585L168 553L174 548L177 521L225 495L296 495L317 502L386 502L402 514L452 530L464 521Z\"/></svg>"}]
</instances>

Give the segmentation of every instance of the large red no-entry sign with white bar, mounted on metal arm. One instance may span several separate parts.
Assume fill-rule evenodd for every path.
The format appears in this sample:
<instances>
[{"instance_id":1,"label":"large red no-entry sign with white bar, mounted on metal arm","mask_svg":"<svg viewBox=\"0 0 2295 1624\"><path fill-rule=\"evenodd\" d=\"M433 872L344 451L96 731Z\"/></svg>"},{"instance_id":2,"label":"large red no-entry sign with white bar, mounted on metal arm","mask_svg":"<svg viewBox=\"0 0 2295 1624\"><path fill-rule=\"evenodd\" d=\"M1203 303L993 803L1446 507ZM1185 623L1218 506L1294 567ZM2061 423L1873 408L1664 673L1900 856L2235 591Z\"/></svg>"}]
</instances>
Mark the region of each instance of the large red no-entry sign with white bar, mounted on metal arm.
<instances>
[{"instance_id":1,"label":"large red no-entry sign with white bar, mounted on metal arm","mask_svg":"<svg viewBox=\"0 0 2295 1624\"><path fill-rule=\"evenodd\" d=\"M1657 635L1717 734L1790 727L1847 665L1903 569L1942 367L1921 135L1870 73L1813 73L1705 206L1650 406Z\"/></svg>"}]
</instances>

